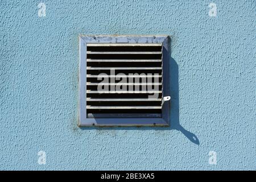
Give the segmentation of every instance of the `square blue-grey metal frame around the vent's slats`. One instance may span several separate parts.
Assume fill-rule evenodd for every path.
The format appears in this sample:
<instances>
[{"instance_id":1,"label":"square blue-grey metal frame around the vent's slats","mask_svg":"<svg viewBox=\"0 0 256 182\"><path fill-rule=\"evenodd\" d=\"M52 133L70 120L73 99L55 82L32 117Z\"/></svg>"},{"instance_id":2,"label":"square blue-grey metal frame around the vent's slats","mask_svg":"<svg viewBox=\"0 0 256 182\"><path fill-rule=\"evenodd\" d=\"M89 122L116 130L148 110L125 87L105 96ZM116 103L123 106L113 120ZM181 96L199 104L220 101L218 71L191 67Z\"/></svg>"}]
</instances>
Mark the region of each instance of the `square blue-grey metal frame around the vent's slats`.
<instances>
[{"instance_id":1,"label":"square blue-grey metal frame around the vent's slats","mask_svg":"<svg viewBox=\"0 0 256 182\"><path fill-rule=\"evenodd\" d=\"M170 96L170 73L169 73L169 36L79 36L79 123L82 126L169 126L170 125L170 102L162 105L162 118L87 118L86 113L86 55L87 43L138 43L138 44L162 44L162 98Z\"/></svg>"}]
</instances>

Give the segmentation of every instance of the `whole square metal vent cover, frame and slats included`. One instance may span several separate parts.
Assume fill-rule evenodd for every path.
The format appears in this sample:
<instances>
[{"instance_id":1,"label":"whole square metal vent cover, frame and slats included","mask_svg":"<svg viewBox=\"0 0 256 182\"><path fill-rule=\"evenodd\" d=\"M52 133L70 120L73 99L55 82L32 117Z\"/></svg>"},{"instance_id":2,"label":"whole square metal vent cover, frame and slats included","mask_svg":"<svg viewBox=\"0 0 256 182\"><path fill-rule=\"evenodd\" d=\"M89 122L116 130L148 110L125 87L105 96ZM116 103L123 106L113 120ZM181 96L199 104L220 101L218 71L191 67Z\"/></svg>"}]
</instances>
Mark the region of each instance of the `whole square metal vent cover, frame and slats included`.
<instances>
[{"instance_id":1,"label":"whole square metal vent cover, frame and slats included","mask_svg":"<svg viewBox=\"0 0 256 182\"><path fill-rule=\"evenodd\" d=\"M168 36L80 36L80 126L166 126Z\"/></svg>"}]
</instances>

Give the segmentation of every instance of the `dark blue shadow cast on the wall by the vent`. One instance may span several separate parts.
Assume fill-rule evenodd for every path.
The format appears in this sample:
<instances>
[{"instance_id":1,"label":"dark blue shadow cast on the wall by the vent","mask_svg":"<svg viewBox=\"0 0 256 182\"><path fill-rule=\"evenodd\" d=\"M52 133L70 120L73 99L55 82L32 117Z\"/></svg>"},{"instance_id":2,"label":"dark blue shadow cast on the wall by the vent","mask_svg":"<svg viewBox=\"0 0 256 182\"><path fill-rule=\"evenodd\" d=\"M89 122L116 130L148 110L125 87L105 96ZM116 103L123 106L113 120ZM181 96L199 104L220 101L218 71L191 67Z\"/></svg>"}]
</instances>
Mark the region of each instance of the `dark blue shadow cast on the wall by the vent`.
<instances>
[{"instance_id":1,"label":"dark blue shadow cast on the wall by the vent","mask_svg":"<svg viewBox=\"0 0 256 182\"><path fill-rule=\"evenodd\" d=\"M199 139L195 134L184 129L179 121L179 66L176 61L170 58L170 96L171 96L171 113L170 126L141 126L141 127L81 127L81 130L177 130L187 137L191 142L199 145Z\"/></svg>"}]
</instances>

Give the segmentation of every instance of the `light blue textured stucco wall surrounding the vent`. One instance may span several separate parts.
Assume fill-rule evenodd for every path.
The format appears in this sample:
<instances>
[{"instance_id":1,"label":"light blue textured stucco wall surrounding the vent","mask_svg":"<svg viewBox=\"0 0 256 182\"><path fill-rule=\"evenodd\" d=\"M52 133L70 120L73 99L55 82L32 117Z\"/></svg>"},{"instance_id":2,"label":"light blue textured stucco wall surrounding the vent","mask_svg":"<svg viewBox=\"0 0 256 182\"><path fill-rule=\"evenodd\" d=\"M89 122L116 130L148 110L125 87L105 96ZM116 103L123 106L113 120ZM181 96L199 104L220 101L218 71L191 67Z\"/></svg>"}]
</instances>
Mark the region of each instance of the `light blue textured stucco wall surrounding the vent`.
<instances>
[{"instance_id":1,"label":"light blue textured stucco wall surrounding the vent","mask_svg":"<svg viewBox=\"0 0 256 182\"><path fill-rule=\"evenodd\" d=\"M39 2L0 1L0 169L256 169L255 1ZM170 35L172 126L77 127L79 34Z\"/></svg>"}]
</instances>

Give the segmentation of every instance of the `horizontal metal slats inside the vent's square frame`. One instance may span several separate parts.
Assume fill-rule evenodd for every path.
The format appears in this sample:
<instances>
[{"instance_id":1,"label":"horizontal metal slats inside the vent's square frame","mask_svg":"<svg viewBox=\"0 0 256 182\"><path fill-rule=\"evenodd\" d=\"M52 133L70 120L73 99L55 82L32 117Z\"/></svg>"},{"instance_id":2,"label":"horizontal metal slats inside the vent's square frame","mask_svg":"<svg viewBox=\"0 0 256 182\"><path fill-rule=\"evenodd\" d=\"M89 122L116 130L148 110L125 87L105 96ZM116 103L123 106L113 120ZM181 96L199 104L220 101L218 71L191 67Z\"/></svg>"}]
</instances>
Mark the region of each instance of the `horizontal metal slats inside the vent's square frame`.
<instances>
[{"instance_id":1,"label":"horizontal metal slats inside the vent's square frame","mask_svg":"<svg viewBox=\"0 0 256 182\"><path fill-rule=\"evenodd\" d=\"M159 43L88 43L86 45L86 113L87 118L161 118L162 117L162 44ZM112 75L114 70L114 75ZM108 91L98 90L98 75L105 73L112 80L104 86ZM127 76L129 90L117 93L118 73ZM135 74L137 73L137 74ZM144 78L158 77L158 82L144 82ZM138 79L139 82L135 82ZM117 79L115 79L117 78ZM133 80L131 82L131 80ZM152 90L144 90L153 85ZM154 86L158 86L155 90ZM121 88L122 88L121 86ZM138 92L130 92L130 89ZM153 91L154 90L154 91ZM158 98L149 99L152 92Z\"/></svg>"}]
</instances>

